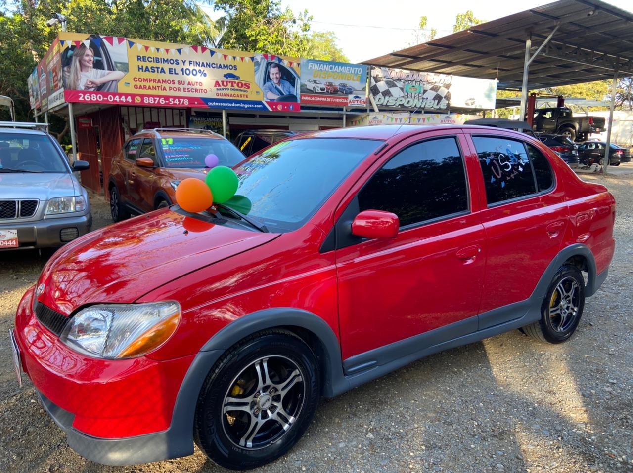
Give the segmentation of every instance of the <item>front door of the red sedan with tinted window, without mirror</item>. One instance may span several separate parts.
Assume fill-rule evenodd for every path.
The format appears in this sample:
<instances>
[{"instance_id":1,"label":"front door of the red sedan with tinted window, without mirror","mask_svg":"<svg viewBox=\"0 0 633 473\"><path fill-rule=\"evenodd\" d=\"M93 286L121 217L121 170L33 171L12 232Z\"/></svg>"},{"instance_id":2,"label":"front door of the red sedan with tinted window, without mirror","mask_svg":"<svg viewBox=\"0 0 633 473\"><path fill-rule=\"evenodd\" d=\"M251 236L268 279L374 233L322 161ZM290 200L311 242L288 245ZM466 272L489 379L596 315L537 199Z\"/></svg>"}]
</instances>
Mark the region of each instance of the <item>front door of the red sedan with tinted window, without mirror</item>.
<instances>
[{"instance_id":1,"label":"front door of the red sedan with tinted window, without mirror","mask_svg":"<svg viewBox=\"0 0 633 473\"><path fill-rule=\"evenodd\" d=\"M339 323L348 373L398 341L429 334L407 342L408 350L419 350L477 328L486 239L471 211L477 199L468 185L463 135L445 133L398 145L357 183L337 220ZM398 215L398 236L351 235L351 221L368 209ZM396 352L396 358L404 356Z\"/></svg>"}]
</instances>

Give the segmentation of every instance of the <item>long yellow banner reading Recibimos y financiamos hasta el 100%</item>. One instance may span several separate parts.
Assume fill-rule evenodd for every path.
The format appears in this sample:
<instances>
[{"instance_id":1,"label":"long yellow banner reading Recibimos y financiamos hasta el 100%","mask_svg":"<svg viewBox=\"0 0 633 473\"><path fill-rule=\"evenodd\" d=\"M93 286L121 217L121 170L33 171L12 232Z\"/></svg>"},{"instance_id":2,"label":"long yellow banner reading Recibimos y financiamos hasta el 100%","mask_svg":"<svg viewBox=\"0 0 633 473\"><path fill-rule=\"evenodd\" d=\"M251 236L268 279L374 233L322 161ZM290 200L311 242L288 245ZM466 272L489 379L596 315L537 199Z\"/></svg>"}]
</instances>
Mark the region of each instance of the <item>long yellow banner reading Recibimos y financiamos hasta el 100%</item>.
<instances>
[{"instance_id":1,"label":"long yellow banner reading Recibimos y financiamos hasta el 100%","mask_svg":"<svg viewBox=\"0 0 633 473\"><path fill-rule=\"evenodd\" d=\"M299 111L298 58L67 32L56 41L66 102Z\"/></svg>"}]
</instances>

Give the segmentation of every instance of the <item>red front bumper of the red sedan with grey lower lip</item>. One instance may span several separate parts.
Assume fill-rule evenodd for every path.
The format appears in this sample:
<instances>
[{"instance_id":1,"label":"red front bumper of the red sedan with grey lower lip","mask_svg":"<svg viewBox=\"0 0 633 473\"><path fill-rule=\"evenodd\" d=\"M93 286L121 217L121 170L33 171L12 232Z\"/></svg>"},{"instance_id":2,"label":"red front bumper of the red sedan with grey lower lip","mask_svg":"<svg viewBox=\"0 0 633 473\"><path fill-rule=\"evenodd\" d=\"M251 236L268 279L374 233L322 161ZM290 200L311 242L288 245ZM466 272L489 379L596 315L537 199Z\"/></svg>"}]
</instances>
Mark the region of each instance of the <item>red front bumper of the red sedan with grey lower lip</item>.
<instances>
[{"instance_id":1,"label":"red front bumper of the red sedan with grey lower lip","mask_svg":"<svg viewBox=\"0 0 633 473\"><path fill-rule=\"evenodd\" d=\"M23 371L69 445L99 463L124 465L190 455L191 437L170 433L179 388L194 355L96 359L78 353L39 323L34 288L18 305L15 339Z\"/></svg>"}]
</instances>

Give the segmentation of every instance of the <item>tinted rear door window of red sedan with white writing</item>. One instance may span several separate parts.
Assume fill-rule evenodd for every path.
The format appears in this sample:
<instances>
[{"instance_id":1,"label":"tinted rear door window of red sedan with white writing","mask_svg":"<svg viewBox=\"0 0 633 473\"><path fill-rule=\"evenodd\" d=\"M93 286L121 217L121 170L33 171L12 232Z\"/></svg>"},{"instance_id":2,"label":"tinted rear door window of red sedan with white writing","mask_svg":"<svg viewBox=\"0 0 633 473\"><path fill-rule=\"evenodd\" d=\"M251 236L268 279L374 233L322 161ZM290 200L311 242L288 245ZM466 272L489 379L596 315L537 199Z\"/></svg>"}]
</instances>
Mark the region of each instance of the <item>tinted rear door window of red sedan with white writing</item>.
<instances>
[{"instance_id":1,"label":"tinted rear door window of red sedan with white writing","mask_svg":"<svg viewBox=\"0 0 633 473\"><path fill-rule=\"evenodd\" d=\"M484 173L488 204L536 192L532 164L522 142L506 138L473 137Z\"/></svg>"}]
</instances>

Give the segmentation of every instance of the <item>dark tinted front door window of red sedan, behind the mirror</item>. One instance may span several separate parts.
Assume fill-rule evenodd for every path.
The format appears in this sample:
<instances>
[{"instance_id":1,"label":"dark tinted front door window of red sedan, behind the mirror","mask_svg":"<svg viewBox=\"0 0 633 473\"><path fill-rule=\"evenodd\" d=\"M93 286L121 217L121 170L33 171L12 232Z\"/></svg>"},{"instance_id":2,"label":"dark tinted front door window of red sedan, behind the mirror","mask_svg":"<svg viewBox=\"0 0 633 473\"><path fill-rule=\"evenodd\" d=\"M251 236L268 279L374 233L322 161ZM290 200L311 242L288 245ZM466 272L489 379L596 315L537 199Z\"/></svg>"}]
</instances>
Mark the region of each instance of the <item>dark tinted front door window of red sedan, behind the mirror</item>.
<instances>
[{"instance_id":1,"label":"dark tinted front door window of red sedan, behind the mirror","mask_svg":"<svg viewBox=\"0 0 633 473\"><path fill-rule=\"evenodd\" d=\"M358 193L360 210L394 212L400 226L468 209L466 175L454 138L418 143L380 168Z\"/></svg>"}]
</instances>

